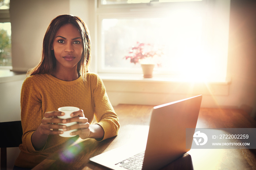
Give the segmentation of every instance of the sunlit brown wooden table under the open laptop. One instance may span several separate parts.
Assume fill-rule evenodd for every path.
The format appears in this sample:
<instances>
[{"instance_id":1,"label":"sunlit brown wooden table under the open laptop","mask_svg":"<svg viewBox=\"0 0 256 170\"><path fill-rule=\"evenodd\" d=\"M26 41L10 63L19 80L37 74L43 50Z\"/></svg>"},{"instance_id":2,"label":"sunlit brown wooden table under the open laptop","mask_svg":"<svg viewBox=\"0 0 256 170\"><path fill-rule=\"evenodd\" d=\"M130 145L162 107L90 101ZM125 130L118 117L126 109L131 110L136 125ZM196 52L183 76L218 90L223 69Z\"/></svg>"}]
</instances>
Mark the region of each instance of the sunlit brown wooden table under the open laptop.
<instances>
[{"instance_id":1,"label":"sunlit brown wooden table under the open laptop","mask_svg":"<svg viewBox=\"0 0 256 170\"><path fill-rule=\"evenodd\" d=\"M34 169L105 170L89 158L128 143L146 144L151 108L153 106L119 104L114 107L121 124L116 137L102 142L71 141ZM240 109L201 108L196 128L256 128L256 121ZM253 149L191 149L163 169L256 169L256 152Z\"/></svg>"}]
</instances>

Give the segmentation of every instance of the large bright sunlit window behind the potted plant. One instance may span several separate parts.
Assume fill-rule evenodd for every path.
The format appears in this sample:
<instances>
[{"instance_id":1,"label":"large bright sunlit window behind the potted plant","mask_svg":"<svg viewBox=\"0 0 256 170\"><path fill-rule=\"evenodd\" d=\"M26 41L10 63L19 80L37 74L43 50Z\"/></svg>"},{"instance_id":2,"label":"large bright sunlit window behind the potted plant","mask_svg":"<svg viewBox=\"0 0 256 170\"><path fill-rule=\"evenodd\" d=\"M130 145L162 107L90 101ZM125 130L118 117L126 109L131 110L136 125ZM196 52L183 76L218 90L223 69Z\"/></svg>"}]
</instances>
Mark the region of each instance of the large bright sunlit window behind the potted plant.
<instances>
[{"instance_id":1,"label":"large bright sunlit window behind the potted plant","mask_svg":"<svg viewBox=\"0 0 256 170\"><path fill-rule=\"evenodd\" d=\"M230 1L140 1L98 1L99 73L140 73L125 56L141 42L162 49L155 75L225 81Z\"/></svg>"}]
</instances>

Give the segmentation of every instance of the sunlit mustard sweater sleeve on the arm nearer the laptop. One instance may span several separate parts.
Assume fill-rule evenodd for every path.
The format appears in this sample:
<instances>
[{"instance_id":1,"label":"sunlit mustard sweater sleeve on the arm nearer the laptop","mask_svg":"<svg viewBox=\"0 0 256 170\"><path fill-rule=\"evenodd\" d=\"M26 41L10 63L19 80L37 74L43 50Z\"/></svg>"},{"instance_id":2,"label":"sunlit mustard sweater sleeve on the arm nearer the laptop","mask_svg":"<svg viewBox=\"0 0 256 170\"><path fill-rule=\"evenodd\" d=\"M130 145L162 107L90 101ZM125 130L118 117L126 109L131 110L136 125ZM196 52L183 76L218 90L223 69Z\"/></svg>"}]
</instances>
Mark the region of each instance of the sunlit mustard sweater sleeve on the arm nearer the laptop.
<instances>
[{"instance_id":1,"label":"sunlit mustard sweater sleeve on the arm nearer the laptop","mask_svg":"<svg viewBox=\"0 0 256 170\"><path fill-rule=\"evenodd\" d=\"M94 107L95 107L95 119L97 124L101 125L104 130L104 137L102 140L111 138L118 134L120 124L117 114L115 113L108 95L106 93L105 86L98 76L94 80Z\"/></svg>"}]
</instances>

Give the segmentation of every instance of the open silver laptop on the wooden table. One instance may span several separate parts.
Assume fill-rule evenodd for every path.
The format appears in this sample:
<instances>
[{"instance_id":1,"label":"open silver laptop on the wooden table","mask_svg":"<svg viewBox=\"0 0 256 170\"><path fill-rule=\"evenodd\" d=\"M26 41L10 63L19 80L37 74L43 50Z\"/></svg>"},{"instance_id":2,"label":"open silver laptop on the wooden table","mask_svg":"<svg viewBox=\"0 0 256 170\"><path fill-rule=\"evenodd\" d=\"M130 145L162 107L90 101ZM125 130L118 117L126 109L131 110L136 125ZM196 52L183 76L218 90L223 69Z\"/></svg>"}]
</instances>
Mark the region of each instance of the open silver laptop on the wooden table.
<instances>
[{"instance_id":1,"label":"open silver laptop on the wooden table","mask_svg":"<svg viewBox=\"0 0 256 170\"><path fill-rule=\"evenodd\" d=\"M90 161L113 170L156 170L168 165L191 149L195 130L186 134L186 128L196 128L201 101L199 95L155 106L150 113L146 148L123 146Z\"/></svg>"}]
</instances>

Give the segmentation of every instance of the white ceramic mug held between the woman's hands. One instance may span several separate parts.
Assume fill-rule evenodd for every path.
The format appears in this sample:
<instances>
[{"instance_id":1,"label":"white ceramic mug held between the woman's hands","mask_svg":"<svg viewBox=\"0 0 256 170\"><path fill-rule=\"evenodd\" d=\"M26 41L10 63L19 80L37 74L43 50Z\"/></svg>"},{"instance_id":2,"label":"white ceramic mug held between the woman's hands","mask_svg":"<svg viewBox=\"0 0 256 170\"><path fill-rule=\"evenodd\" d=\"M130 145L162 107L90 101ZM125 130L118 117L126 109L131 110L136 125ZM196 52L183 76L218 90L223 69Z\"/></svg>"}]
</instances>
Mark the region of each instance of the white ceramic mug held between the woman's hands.
<instances>
[{"instance_id":1,"label":"white ceramic mug held between the woman's hands","mask_svg":"<svg viewBox=\"0 0 256 170\"><path fill-rule=\"evenodd\" d=\"M79 111L80 109L77 108L77 107L72 107L72 106L66 106L66 107L60 107L58 109L58 111L61 111L63 113L65 113L65 115L63 116L58 116L58 118L60 119L68 119L68 118L71 118L70 114L73 113L73 112L76 112L76 111ZM67 127L68 126L71 126L71 125L74 125L74 124L77 124L77 122L71 122L71 123L59 123L61 125L66 125ZM59 129L60 131L62 129ZM73 129L73 130L70 130L70 131L63 131L63 134L60 134L60 136L62 137L73 137L73 136L76 136L76 135L70 135L71 132L75 132L77 131L77 129Z\"/></svg>"}]
</instances>

